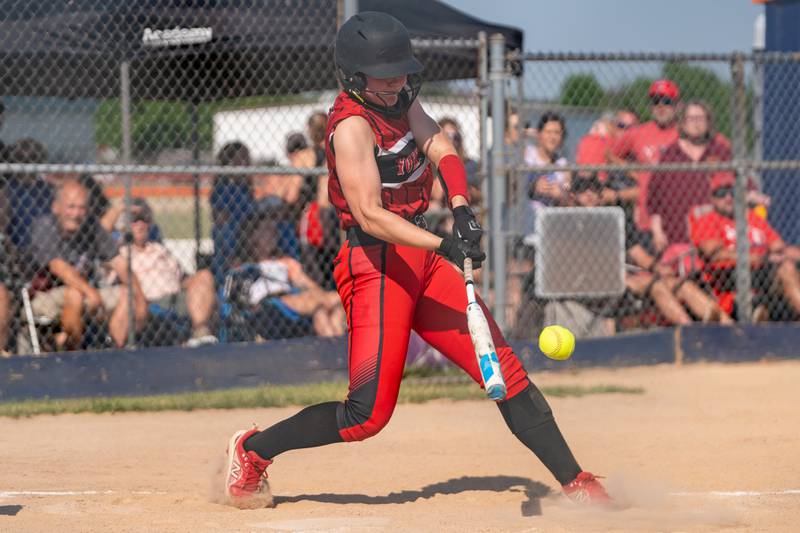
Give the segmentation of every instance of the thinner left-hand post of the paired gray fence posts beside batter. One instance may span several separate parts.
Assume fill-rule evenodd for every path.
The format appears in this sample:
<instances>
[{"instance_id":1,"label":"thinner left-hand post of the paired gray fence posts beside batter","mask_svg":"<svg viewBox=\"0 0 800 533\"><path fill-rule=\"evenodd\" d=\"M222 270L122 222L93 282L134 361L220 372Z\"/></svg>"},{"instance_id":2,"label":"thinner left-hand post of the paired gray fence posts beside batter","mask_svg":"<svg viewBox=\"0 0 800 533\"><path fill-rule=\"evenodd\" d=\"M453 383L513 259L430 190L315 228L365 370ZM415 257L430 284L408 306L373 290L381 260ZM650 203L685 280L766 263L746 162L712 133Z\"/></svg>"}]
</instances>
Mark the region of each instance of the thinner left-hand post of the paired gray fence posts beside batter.
<instances>
[{"instance_id":1,"label":"thinner left-hand post of the paired gray fence posts beside batter","mask_svg":"<svg viewBox=\"0 0 800 533\"><path fill-rule=\"evenodd\" d=\"M483 206L485 213L491 213L492 188L489 179L489 43L486 39L486 32L478 32L478 95L480 97L480 176L481 176L481 195L483 195ZM486 249L492 249L492 225L489 216L484 217L483 223L486 230ZM483 264L483 290L484 294L489 294L492 287L492 268L489 261Z\"/></svg>"}]
</instances>

